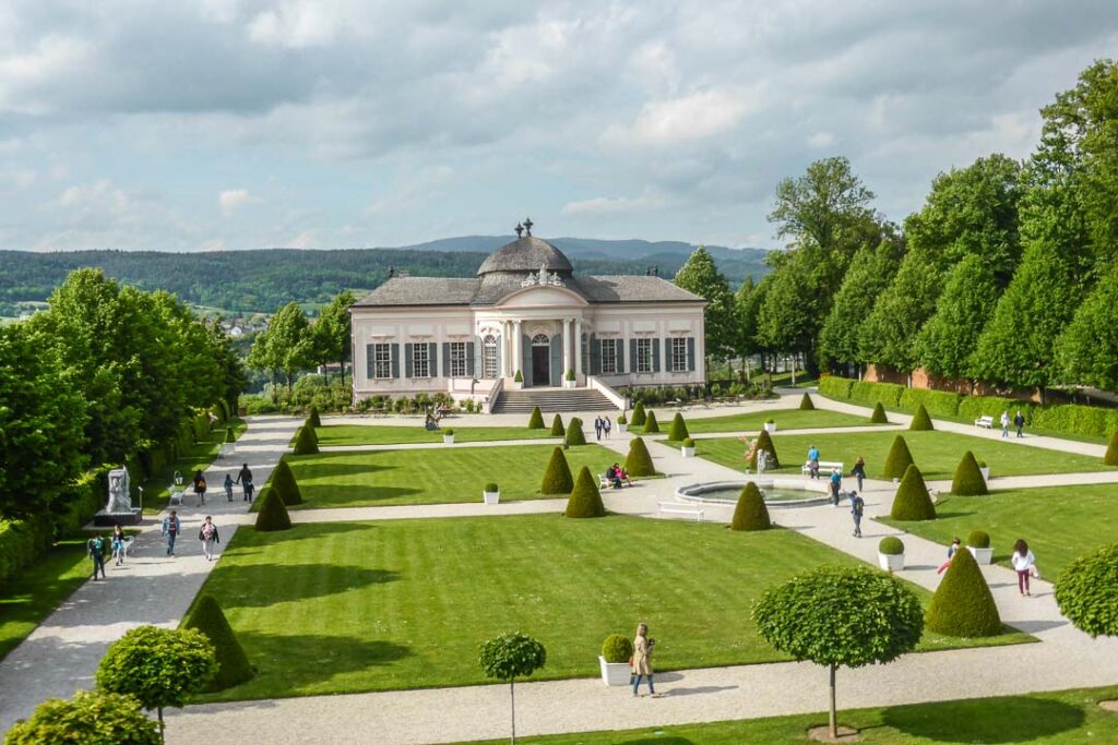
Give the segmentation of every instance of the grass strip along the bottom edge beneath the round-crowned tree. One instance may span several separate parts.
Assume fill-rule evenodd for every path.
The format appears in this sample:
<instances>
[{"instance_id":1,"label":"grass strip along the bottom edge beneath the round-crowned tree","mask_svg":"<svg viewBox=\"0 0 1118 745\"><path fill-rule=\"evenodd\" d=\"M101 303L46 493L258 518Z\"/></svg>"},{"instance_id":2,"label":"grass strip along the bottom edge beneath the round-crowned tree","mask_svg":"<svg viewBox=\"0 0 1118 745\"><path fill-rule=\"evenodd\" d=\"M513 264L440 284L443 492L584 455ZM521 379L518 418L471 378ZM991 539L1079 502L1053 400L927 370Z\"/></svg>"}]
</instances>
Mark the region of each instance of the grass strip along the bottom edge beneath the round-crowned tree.
<instances>
[{"instance_id":1,"label":"grass strip along the bottom edge beneath the round-crowned tree","mask_svg":"<svg viewBox=\"0 0 1118 745\"><path fill-rule=\"evenodd\" d=\"M671 686L661 686L665 691ZM842 696L842 672L839 695ZM819 698L825 690L821 687ZM1118 688L1002 696L961 701L912 704L839 711L840 724L856 727L866 745L931 743L1014 743L1082 745L1118 742L1118 714L1098 701L1118 697ZM651 715L654 716L654 715ZM524 745L803 745L807 730L826 726L826 714L718 722L550 737L518 737ZM505 739L486 741L494 745ZM480 745L480 744L475 744Z\"/></svg>"}]
</instances>

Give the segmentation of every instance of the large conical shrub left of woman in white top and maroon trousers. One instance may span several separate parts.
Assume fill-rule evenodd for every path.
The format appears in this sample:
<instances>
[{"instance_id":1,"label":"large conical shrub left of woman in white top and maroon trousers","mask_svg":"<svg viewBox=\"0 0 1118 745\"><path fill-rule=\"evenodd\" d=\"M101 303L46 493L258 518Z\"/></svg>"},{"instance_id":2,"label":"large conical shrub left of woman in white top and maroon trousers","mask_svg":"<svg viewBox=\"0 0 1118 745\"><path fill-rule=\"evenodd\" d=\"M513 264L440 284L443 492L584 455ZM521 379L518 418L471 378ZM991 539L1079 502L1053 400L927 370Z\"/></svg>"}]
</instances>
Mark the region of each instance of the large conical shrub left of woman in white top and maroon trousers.
<instances>
[{"instance_id":1,"label":"large conical shrub left of woman in white top and maroon trousers","mask_svg":"<svg viewBox=\"0 0 1118 745\"><path fill-rule=\"evenodd\" d=\"M948 637L995 637L1002 633L1002 618L994 595L966 548L955 552L951 565L931 596L923 625Z\"/></svg>"}]
</instances>

